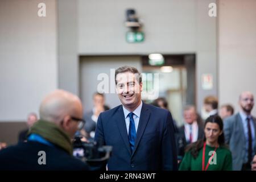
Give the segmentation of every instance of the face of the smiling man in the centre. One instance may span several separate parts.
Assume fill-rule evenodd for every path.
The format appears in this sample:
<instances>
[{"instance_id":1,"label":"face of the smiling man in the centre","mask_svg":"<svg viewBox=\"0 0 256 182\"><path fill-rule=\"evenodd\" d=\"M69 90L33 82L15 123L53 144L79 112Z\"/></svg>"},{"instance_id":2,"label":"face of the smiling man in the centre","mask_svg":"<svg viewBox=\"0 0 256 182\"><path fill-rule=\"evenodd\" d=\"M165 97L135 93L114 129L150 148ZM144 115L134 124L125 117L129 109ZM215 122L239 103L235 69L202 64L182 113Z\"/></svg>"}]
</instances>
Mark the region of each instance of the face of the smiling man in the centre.
<instances>
[{"instance_id":1,"label":"face of the smiling man in the centre","mask_svg":"<svg viewBox=\"0 0 256 182\"><path fill-rule=\"evenodd\" d=\"M142 82L139 83L138 74L118 73L116 80L119 100L127 110L134 111L141 104Z\"/></svg>"}]
</instances>

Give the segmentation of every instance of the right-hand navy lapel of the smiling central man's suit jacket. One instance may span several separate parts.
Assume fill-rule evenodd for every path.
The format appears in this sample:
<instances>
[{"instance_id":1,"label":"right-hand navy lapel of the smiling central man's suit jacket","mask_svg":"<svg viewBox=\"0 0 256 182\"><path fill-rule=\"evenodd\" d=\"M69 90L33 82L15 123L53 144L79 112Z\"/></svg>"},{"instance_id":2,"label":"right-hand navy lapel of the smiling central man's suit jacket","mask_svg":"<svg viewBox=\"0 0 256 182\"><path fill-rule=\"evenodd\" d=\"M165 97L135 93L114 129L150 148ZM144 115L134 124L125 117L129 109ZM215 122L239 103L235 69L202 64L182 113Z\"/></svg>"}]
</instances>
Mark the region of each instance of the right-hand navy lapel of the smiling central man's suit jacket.
<instances>
[{"instance_id":1,"label":"right-hand navy lapel of the smiling central man's suit jacket","mask_svg":"<svg viewBox=\"0 0 256 182\"><path fill-rule=\"evenodd\" d=\"M150 118L150 110L147 108L147 105L143 103L142 109L141 109L141 117L139 118L139 126L138 126L138 130L137 130L137 138L135 141L133 155L138 147L139 141L141 140L141 137L142 137L144 130L147 126L149 118Z\"/></svg>"}]
</instances>

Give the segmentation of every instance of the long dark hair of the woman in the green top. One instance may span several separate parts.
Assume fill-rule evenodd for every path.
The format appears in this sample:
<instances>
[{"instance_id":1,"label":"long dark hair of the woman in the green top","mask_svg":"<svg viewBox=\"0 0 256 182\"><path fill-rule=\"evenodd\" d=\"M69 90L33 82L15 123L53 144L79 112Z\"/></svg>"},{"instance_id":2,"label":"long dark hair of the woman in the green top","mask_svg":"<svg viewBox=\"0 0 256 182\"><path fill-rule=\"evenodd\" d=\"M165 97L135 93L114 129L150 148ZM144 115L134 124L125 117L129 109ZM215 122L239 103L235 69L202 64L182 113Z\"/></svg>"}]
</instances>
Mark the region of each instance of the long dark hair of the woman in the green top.
<instances>
[{"instance_id":1,"label":"long dark hair of the woman in the green top","mask_svg":"<svg viewBox=\"0 0 256 182\"><path fill-rule=\"evenodd\" d=\"M211 115L210 117L208 117L205 120L204 123L204 128L207 125L208 122L211 123L217 123L218 127L220 127L220 131L223 131L223 122L220 116L218 115ZM193 156L193 158L196 158L199 154L199 151L201 150L201 148L203 148L204 146L204 142L205 142L206 138L204 136L204 139L200 139L195 143L189 144L186 148L185 148L185 152L191 151L191 154ZM218 144L222 147L226 147L225 145L225 138L224 138L224 133L222 132L222 134L220 136L218 136Z\"/></svg>"}]
</instances>

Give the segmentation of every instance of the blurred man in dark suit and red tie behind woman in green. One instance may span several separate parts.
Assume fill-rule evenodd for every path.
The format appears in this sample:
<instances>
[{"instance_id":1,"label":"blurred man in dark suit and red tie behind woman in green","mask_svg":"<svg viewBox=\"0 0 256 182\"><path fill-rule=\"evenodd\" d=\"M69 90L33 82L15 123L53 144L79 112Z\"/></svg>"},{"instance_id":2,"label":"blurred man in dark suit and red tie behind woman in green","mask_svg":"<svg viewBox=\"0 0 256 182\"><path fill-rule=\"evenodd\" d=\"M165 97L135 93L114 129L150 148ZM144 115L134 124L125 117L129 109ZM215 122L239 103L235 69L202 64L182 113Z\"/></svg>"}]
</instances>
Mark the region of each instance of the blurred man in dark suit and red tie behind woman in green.
<instances>
[{"instance_id":1,"label":"blurred man in dark suit and red tie behind woman in green","mask_svg":"<svg viewBox=\"0 0 256 182\"><path fill-rule=\"evenodd\" d=\"M204 128L197 122L195 106L185 106L183 117L185 123L179 128L176 137L179 159L184 156L184 150L188 144L204 138Z\"/></svg>"}]
</instances>

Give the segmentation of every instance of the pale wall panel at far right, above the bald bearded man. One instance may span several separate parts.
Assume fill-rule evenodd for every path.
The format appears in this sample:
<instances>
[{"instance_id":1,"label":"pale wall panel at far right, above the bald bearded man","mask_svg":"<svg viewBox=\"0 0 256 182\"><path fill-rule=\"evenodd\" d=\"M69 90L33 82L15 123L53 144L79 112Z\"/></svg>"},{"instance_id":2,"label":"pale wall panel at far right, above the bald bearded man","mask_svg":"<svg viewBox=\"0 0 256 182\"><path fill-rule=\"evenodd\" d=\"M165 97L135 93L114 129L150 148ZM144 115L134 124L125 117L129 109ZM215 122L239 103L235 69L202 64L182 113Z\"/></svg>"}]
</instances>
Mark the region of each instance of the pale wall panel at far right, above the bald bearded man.
<instances>
[{"instance_id":1,"label":"pale wall panel at far right, above the bald bearded man","mask_svg":"<svg viewBox=\"0 0 256 182\"><path fill-rule=\"evenodd\" d=\"M220 0L219 9L220 104L230 103L238 111L242 91L256 97L256 1Z\"/></svg>"}]
</instances>

